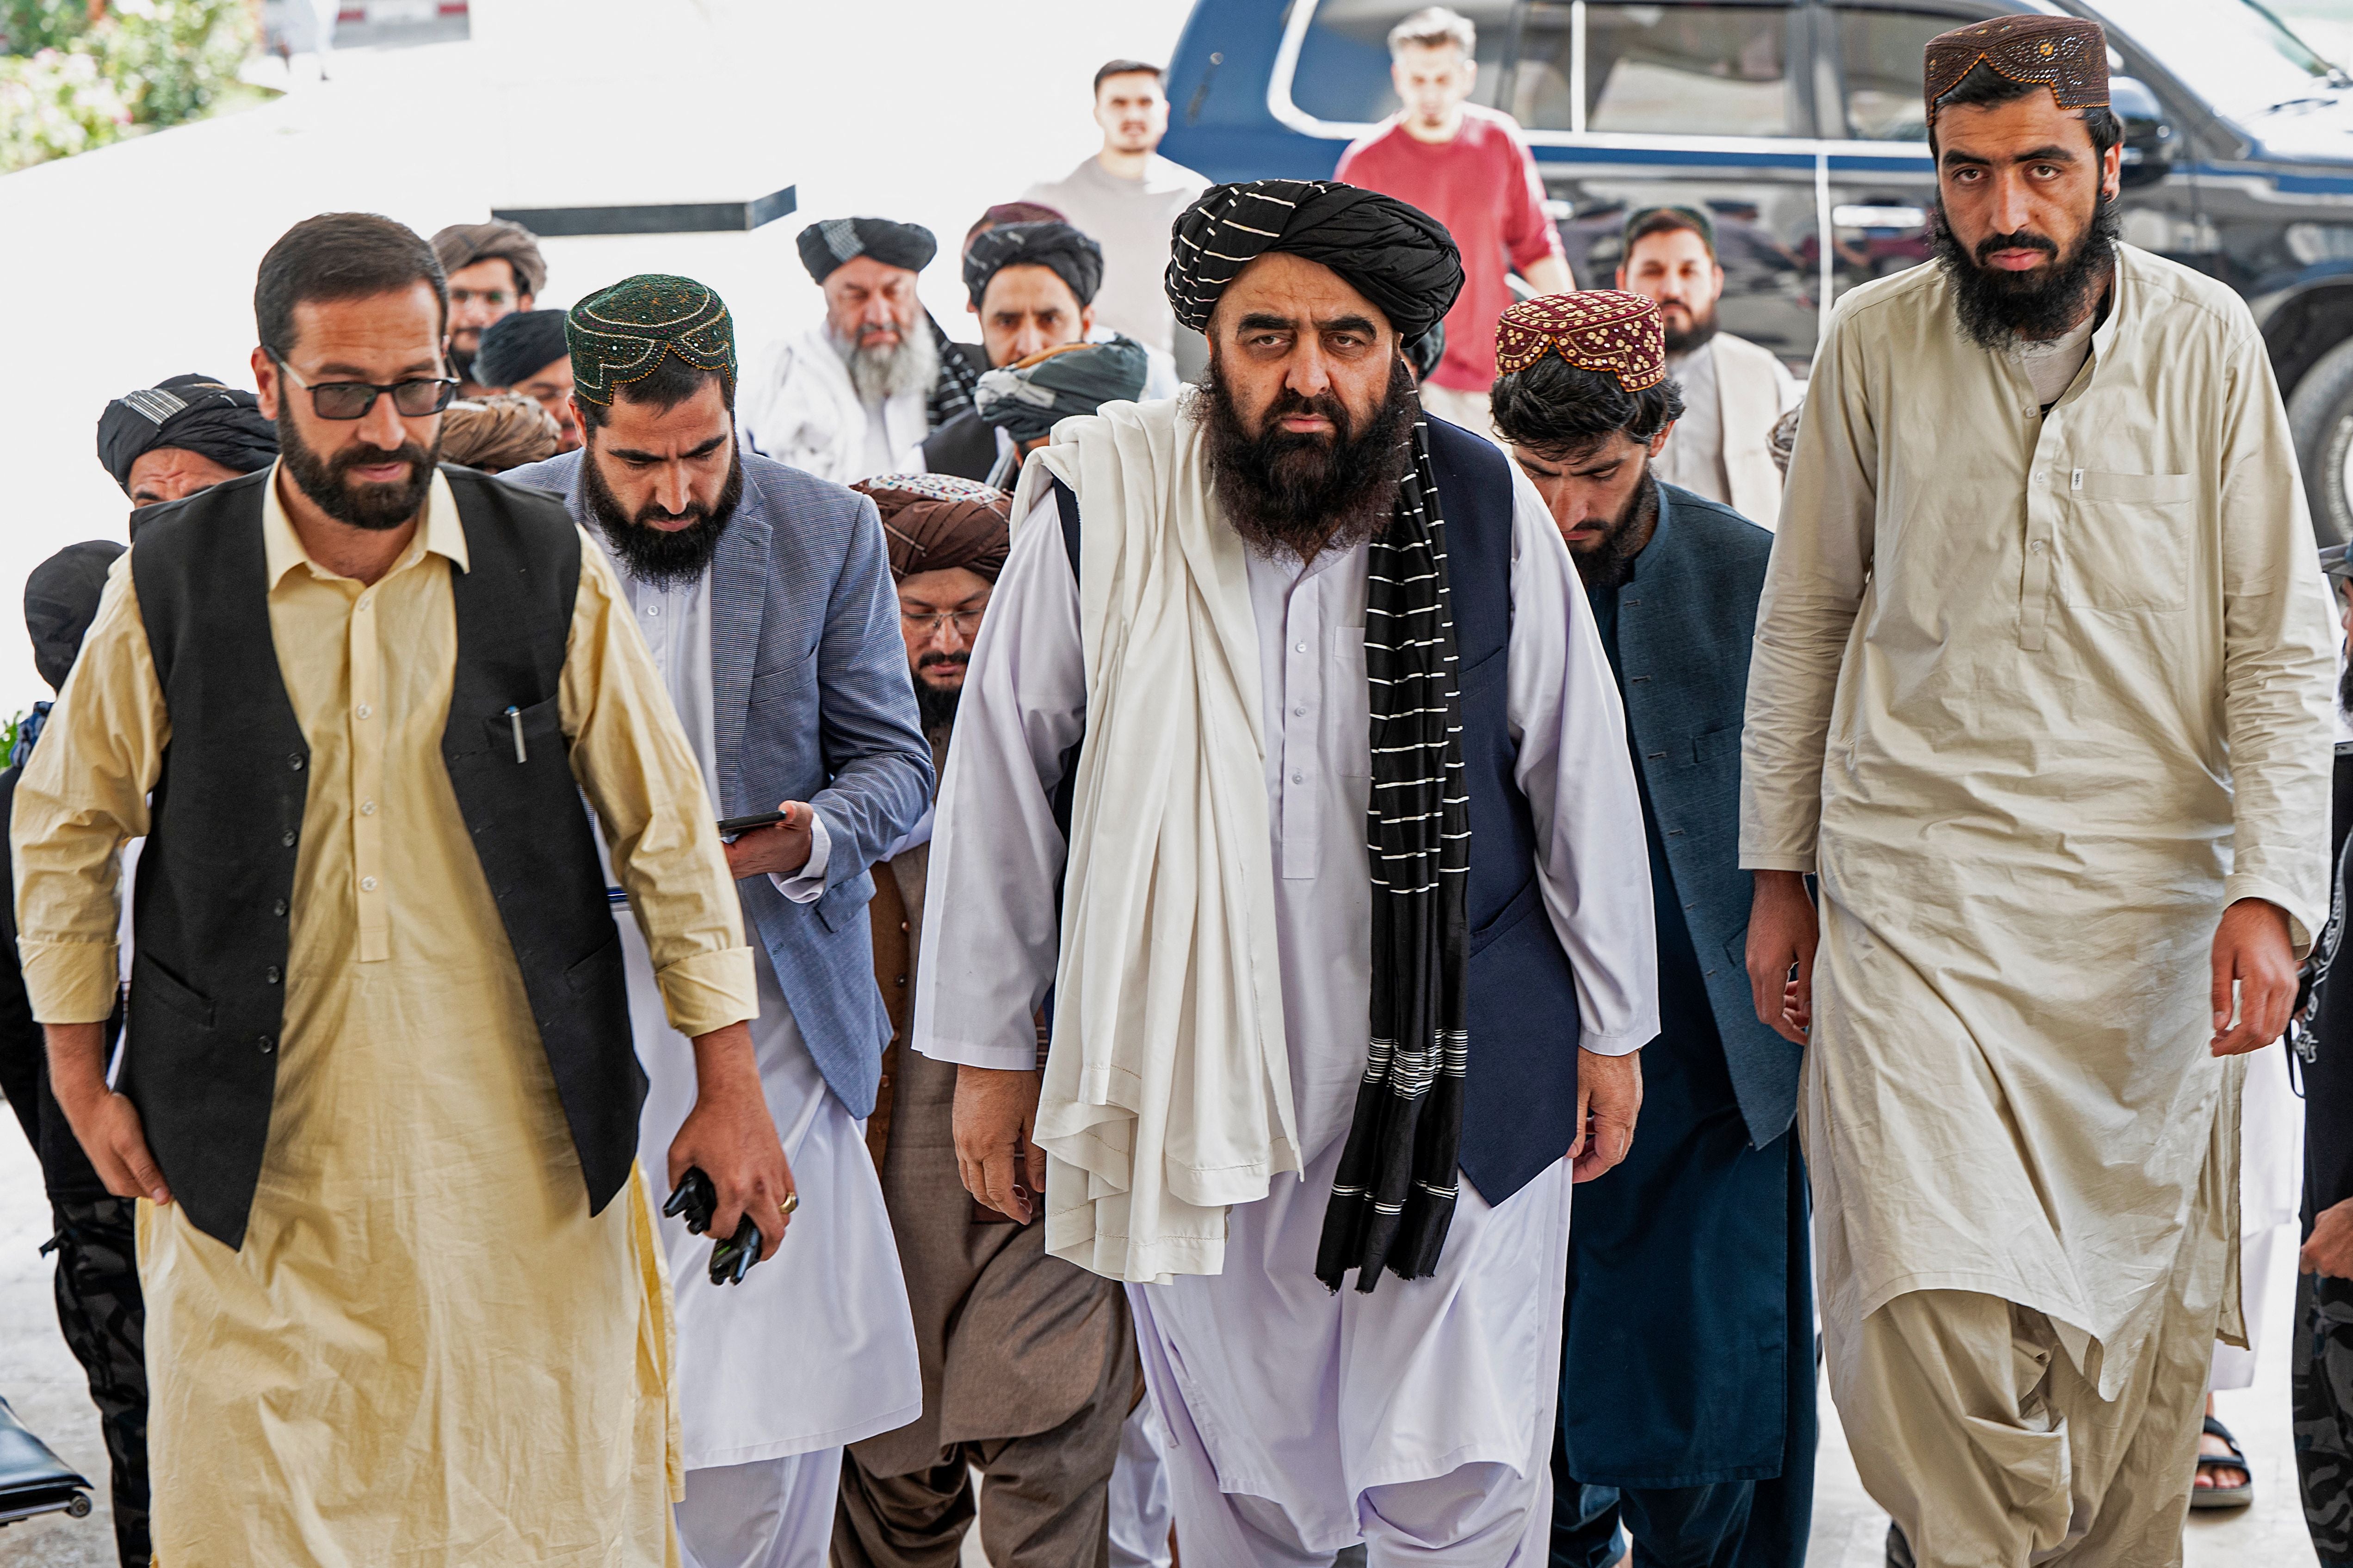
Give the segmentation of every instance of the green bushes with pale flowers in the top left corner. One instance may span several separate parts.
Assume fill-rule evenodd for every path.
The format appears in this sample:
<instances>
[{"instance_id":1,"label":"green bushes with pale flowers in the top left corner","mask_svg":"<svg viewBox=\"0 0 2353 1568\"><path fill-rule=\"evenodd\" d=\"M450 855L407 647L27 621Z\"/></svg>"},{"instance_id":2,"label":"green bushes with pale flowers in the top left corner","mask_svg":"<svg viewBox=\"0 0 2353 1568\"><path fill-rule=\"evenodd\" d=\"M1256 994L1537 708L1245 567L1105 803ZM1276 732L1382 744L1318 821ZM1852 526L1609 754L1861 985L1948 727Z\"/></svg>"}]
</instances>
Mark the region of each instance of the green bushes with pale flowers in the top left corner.
<instances>
[{"instance_id":1,"label":"green bushes with pale flowers in the top left corner","mask_svg":"<svg viewBox=\"0 0 2353 1568\"><path fill-rule=\"evenodd\" d=\"M0 174L198 120L254 47L247 0L0 0Z\"/></svg>"}]
</instances>

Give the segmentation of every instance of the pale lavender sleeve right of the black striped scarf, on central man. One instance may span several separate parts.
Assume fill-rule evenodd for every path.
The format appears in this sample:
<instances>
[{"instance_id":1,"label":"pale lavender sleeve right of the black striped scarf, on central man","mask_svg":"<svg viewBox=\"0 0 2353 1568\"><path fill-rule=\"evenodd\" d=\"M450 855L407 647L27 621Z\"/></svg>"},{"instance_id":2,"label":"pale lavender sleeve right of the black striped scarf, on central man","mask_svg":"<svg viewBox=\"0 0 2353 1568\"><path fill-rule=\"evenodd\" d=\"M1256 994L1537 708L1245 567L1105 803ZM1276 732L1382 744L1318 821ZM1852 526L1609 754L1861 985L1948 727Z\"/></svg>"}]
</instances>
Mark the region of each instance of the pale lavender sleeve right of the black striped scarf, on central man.
<instances>
[{"instance_id":1,"label":"pale lavender sleeve right of the black striped scarf, on central man","mask_svg":"<svg viewBox=\"0 0 2353 1568\"><path fill-rule=\"evenodd\" d=\"M1577 976L1595 1056L1659 1034L1659 938L1626 710L1593 609L1544 498L1513 468L1508 717L1537 830L1544 912Z\"/></svg>"}]
</instances>

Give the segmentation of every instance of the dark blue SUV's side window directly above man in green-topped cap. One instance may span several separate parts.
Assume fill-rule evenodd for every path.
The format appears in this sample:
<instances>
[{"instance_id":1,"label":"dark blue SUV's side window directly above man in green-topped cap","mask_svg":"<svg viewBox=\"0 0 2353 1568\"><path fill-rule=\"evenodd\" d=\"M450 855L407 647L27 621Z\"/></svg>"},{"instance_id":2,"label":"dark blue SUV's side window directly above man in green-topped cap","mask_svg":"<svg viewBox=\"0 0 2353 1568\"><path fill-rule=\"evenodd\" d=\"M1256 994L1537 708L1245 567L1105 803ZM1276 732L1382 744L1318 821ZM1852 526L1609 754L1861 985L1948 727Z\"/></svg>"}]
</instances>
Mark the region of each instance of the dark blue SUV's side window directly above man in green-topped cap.
<instances>
[{"instance_id":1,"label":"dark blue SUV's side window directly above man in green-topped cap","mask_svg":"<svg viewBox=\"0 0 2353 1568\"><path fill-rule=\"evenodd\" d=\"M1791 134L1788 7L1588 2L1584 12L1588 132Z\"/></svg>"}]
</instances>

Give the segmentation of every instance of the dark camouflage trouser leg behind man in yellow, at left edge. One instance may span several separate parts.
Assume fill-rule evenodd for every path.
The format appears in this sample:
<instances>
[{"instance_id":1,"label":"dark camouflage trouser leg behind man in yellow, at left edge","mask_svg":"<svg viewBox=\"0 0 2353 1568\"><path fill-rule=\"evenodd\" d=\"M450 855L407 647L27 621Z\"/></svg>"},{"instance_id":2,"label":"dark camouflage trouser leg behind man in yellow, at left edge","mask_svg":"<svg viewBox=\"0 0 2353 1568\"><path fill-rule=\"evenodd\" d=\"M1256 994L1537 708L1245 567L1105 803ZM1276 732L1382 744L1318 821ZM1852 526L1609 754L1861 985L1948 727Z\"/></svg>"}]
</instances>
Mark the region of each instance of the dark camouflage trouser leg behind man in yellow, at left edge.
<instances>
[{"instance_id":1,"label":"dark camouflage trouser leg behind man in yellow, at left edge","mask_svg":"<svg viewBox=\"0 0 2353 1568\"><path fill-rule=\"evenodd\" d=\"M139 1293L139 1246L132 1199L54 1201L56 1326L89 1378L106 1458L113 1465L115 1549L122 1568L146 1568L146 1298Z\"/></svg>"}]
</instances>

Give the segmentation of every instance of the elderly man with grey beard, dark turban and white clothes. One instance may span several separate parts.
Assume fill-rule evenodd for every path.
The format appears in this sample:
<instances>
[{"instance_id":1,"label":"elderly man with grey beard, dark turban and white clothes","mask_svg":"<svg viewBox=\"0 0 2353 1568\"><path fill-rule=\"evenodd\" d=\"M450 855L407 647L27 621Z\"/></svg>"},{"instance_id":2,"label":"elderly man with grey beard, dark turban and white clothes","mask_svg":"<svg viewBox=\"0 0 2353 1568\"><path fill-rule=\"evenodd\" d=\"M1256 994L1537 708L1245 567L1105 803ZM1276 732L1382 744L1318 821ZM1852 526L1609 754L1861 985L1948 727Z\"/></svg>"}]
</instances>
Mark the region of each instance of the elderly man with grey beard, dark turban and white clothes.
<instances>
[{"instance_id":1,"label":"elderly man with grey beard, dark turban and white clothes","mask_svg":"<svg viewBox=\"0 0 2353 1568\"><path fill-rule=\"evenodd\" d=\"M932 430L972 409L974 369L915 296L939 242L920 223L826 219L800 230L800 266L826 320L767 353L744 383L753 451L849 484L920 465Z\"/></svg>"}]
</instances>

